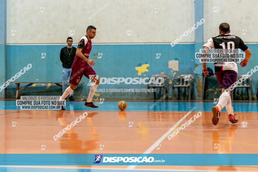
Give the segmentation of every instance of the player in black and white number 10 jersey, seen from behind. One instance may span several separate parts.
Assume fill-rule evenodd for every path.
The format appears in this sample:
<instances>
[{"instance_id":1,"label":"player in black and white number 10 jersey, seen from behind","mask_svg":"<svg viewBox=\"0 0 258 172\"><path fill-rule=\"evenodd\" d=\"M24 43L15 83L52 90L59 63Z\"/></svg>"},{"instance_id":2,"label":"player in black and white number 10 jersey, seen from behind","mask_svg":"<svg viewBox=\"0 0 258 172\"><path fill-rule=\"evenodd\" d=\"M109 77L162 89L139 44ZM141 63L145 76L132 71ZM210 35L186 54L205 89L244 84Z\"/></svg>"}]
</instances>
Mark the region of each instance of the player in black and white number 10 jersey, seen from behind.
<instances>
[{"instance_id":1,"label":"player in black and white number 10 jersey, seen from behind","mask_svg":"<svg viewBox=\"0 0 258 172\"><path fill-rule=\"evenodd\" d=\"M235 36L230 34L230 27L228 23L221 23L219 26L219 35L213 38L210 38L204 45L204 49L238 49L240 48L244 51L245 59L240 62L241 67L245 67L249 58L251 57L251 51L245 45L244 41ZM226 107L228 112L228 119L231 123L238 122L235 114L233 112L233 108L231 105L231 98L230 92L226 92L225 90L229 88L232 84L237 81L237 64L235 62L223 62L223 63L214 63L215 74L217 77L217 81L222 88L222 94L219 97L219 101L216 106L212 108L213 118L212 123L213 125L218 124L218 120L220 117L220 111ZM206 77L208 75L208 70L206 68L206 63L203 63L202 72Z\"/></svg>"}]
</instances>

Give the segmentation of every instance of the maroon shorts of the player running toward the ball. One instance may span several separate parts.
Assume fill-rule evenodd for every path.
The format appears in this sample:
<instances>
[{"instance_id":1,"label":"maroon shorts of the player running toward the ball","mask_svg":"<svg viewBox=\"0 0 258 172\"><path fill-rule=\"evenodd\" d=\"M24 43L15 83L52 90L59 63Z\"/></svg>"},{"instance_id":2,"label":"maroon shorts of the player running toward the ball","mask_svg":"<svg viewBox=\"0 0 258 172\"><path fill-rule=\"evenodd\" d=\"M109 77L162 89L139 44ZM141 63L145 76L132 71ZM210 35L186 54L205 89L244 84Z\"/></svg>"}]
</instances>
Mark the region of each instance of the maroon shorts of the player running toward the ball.
<instances>
[{"instance_id":1,"label":"maroon shorts of the player running toward the ball","mask_svg":"<svg viewBox=\"0 0 258 172\"><path fill-rule=\"evenodd\" d=\"M87 66L81 70L72 68L69 83L73 85L78 85L82 79L82 75L86 76L89 79L89 76L96 75L96 72L92 69L92 67L89 64L87 64Z\"/></svg>"}]
</instances>

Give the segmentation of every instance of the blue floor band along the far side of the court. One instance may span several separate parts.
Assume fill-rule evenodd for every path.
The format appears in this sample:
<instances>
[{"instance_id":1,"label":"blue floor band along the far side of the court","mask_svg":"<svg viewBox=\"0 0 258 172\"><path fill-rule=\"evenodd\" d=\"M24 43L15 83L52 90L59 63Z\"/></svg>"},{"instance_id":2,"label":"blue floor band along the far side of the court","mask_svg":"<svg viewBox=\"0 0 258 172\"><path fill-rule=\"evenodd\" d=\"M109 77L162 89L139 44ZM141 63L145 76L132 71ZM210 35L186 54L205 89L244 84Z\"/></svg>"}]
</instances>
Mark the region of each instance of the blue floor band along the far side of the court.
<instances>
[{"instance_id":1,"label":"blue floor band along the far side of the court","mask_svg":"<svg viewBox=\"0 0 258 172\"><path fill-rule=\"evenodd\" d=\"M84 106L84 101L67 101L64 108L66 110L106 110L106 111L119 111L117 108L118 102L104 101L99 104L98 101L94 102L99 108L89 108ZM194 111L211 112L211 109L216 104L213 102L159 102L153 108L149 108L153 102L127 102L126 111L189 111L191 107L196 107ZM258 103L232 103L235 112L258 112ZM20 110L20 106L16 106L16 101L0 101L0 110ZM223 108L222 112L225 112Z\"/></svg>"}]
</instances>

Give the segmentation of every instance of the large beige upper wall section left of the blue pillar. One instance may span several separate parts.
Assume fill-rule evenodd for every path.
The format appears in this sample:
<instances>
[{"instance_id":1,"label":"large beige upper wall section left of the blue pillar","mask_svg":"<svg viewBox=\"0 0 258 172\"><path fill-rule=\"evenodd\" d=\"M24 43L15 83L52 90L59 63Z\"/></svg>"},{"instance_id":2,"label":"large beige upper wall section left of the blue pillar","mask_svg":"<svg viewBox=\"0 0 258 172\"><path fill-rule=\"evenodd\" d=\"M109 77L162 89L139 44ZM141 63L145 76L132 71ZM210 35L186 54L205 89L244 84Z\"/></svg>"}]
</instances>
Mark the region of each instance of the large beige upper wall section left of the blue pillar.
<instances>
[{"instance_id":1,"label":"large beige upper wall section left of the blue pillar","mask_svg":"<svg viewBox=\"0 0 258 172\"><path fill-rule=\"evenodd\" d=\"M72 37L78 42L88 25L97 28L94 43L170 43L193 24L193 0L7 1L9 44L65 43L69 30L75 31ZM127 30L132 30L131 36ZM181 42L194 42L194 33Z\"/></svg>"}]
</instances>

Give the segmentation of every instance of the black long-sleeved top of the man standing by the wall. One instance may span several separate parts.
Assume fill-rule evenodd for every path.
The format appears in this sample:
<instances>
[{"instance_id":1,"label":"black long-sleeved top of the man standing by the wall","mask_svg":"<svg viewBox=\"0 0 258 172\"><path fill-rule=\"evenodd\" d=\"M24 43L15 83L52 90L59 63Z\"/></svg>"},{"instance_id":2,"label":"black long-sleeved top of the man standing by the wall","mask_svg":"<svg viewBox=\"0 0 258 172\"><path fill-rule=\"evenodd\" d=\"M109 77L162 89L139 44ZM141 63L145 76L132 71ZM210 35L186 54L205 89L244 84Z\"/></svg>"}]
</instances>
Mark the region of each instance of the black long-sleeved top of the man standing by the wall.
<instances>
[{"instance_id":1,"label":"black long-sleeved top of the man standing by the wall","mask_svg":"<svg viewBox=\"0 0 258 172\"><path fill-rule=\"evenodd\" d=\"M63 67L65 67L65 68L71 68L72 67L72 63L74 61L75 52L76 52L76 48L75 47L72 47L72 48L63 47L61 49L61 51L60 51L60 60L63 63L63 65L62 65Z\"/></svg>"}]
</instances>

